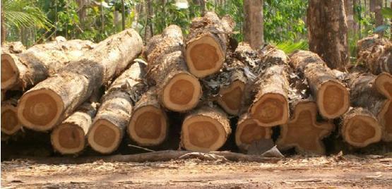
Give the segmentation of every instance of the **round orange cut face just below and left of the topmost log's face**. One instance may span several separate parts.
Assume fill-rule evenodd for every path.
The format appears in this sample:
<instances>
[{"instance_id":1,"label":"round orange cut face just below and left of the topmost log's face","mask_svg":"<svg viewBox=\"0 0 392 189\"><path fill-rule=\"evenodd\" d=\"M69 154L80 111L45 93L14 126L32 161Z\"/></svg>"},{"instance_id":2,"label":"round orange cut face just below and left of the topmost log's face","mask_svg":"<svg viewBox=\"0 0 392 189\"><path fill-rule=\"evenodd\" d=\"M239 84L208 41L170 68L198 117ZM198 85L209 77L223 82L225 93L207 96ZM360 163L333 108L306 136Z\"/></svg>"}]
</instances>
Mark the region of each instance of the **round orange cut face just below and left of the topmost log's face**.
<instances>
[{"instance_id":1,"label":"round orange cut face just below and left of the topmost log's face","mask_svg":"<svg viewBox=\"0 0 392 189\"><path fill-rule=\"evenodd\" d=\"M193 109L201 97L201 85L193 75L179 73L163 89L162 104L172 111Z\"/></svg>"}]
</instances>

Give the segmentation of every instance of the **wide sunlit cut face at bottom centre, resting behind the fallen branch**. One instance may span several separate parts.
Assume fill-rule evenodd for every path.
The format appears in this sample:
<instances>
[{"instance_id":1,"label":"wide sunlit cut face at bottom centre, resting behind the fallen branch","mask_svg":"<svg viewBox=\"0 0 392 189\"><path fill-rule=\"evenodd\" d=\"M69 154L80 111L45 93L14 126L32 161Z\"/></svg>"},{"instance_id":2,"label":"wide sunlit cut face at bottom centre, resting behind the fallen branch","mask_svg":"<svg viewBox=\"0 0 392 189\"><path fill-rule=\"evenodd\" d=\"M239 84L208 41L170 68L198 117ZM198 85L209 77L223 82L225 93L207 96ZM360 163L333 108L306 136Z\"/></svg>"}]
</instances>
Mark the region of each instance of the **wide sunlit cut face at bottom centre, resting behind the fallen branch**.
<instances>
[{"instance_id":1,"label":"wide sunlit cut face at bottom centre, resting behind the fallen branch","mask_svg":"<svg viewBox=\"0 0 392 189\"><path fill-rule=\"evenodd\" d=\"M182 144L186 150L216 151L226 142L222 124L209 116L191 116L182 124Z\"/></svg>"}]
</instances>

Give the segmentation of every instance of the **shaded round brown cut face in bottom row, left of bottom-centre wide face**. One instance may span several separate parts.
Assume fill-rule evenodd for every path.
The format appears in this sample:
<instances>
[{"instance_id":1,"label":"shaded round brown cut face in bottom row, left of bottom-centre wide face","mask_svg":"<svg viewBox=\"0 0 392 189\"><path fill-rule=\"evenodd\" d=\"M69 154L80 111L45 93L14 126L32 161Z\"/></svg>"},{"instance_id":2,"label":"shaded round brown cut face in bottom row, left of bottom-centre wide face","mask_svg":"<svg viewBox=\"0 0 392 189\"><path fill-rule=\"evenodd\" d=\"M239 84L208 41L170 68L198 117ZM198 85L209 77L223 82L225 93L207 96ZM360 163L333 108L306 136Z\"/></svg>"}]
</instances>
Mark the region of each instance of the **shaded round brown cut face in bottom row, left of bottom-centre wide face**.
<instances>
[{"instance_id":1,"label":"shaded round brown cut face in bottom row, left of bottom-centre wide face","mask_svg":"<svg viewBox=\"0 0 392 189\"><path fill-rule=\"evenodd\" d=\"M160 145L167 136L165 112L155 106L143 106L137 109L131 117L128 132L138 145Z\"/></svg>"}]
</instances>

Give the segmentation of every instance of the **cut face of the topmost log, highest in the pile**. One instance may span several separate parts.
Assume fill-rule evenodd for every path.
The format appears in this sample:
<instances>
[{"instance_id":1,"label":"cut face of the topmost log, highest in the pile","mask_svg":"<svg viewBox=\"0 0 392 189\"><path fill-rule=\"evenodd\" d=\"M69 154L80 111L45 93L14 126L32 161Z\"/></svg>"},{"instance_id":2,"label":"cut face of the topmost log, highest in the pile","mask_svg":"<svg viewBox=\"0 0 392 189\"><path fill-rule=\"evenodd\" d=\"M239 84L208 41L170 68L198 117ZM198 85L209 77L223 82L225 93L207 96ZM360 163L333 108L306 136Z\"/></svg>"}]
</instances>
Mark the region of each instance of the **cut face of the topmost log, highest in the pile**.
<instances>
[{"instance_id":1,"label":"cut face of the topmost log, highest in the pile","mask_svg":"<svg viewBox=\"0 0 392 189\"><path fill-rule=\"evenodd\" d=\"M198 78L216 73L222 68L225 54L214 37L204 35L186 47L186 63L189 71Z\"/></svg>"}]
</instances>

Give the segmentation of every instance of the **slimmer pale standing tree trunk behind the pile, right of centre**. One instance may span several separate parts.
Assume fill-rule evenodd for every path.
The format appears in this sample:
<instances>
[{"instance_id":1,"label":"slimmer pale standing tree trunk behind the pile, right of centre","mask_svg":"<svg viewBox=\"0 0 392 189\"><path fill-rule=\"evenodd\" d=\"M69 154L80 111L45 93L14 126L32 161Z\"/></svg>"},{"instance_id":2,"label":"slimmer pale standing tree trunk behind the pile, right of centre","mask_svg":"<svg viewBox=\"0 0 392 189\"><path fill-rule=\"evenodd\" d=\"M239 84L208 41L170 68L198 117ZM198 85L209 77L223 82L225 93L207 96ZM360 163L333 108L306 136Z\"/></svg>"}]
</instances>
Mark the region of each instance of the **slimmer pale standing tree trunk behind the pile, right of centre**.
<instances>
[{"instance_id":1,"label":"slimmer pale standing tree trunk behind the pile, right of centre","mask_svg":"<svg viewBox=\"0 0 392 189\"><path fill-rule=\"evenodd\" d=\"M263 30L263 0L244 0L244 38L252 49L264 44Z\"/></svg>"}]
</instances>

